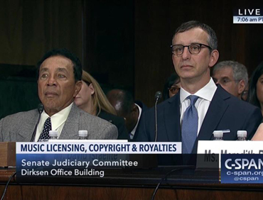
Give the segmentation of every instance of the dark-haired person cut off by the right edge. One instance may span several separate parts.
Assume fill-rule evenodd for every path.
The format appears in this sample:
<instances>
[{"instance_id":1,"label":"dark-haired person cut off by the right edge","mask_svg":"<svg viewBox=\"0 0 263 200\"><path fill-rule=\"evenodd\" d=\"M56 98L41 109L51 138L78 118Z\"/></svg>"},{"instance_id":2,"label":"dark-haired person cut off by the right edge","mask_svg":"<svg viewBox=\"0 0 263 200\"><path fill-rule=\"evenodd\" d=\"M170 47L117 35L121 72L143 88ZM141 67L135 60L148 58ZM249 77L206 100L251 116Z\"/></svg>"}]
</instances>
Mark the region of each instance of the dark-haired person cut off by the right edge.
<instances>
[{"instance_id":1,"label":"dark-haired person cut off by the right edge","mask_svg":"<svg viewBox=\"0 0 263 200\"><path fill-rule=\"evenodd\" d=\"M263 62L257 66L250 78L247 101L259 107L263 115Z\"/></svg>"}]
</instances>

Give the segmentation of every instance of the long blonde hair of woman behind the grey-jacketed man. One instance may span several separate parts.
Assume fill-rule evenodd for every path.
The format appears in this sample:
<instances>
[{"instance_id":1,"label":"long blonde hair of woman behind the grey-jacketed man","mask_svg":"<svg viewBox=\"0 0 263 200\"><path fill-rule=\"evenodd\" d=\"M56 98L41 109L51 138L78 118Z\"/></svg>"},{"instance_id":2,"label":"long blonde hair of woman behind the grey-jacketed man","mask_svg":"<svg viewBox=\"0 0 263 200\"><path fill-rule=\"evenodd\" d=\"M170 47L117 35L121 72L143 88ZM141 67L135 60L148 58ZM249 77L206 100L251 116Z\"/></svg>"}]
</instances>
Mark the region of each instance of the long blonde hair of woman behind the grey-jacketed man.
<instances>
[{"instance_id":1,"label":"long blonde hair of woman behind the grey-jacketed man","mask_svg":"<svg viewBox=\"0 0 263 200\"><path fill-rule=\"evenodd\" d=\"M87 85L92 84L94 87L94 94L92 94L92 113L97 113L97 116L100 114L100 111L105 111L107 113L112 113L117 115L112 104L109 103L106 95L102 91L100 84L93 78L89 73L82 70L82 81Z\"/></svg>"}]
</instances>

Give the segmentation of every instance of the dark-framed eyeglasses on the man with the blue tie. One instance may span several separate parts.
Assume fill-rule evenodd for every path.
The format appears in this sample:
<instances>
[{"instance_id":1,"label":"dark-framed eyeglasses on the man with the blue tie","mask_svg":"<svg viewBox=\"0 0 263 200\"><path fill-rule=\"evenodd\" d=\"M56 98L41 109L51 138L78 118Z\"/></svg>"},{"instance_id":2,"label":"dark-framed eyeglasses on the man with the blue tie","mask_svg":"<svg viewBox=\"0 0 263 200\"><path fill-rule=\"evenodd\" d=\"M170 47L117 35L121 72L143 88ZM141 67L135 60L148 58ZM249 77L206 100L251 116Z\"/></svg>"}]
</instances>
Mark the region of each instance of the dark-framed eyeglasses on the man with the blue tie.
<instances>
[{"instance_id":1,"label":"dark-framed eyeglasses on the man with the blue tie","mask_svg":"<svg viewBox=\"0 0 263 200\"><path fill-rule=\"evenodd\" d=\"M212 48L210 48L210 46L204 45L204 44L200 44L200 43L193 43L193 44L190 44L190 45L171 45L171 50L172 50L173 55L182 55L183 54L183 50L185 48L188 48L188 51L190 52L190 54L196 55L196 54L198 54L200 52L202 46L212 50Z\"/></svg>"}]
</instances>

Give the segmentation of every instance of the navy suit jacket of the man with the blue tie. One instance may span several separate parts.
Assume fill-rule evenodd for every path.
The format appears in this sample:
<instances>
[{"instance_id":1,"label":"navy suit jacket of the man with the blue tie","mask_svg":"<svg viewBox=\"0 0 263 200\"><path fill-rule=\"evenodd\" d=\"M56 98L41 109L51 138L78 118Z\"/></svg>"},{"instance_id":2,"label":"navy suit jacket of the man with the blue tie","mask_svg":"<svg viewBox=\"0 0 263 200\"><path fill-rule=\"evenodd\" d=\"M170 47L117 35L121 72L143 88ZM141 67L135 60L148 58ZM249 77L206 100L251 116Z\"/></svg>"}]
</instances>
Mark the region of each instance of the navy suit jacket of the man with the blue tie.
<instances>
[{"instance_id":1,"label":"navy suit jacket of the man with the blue tie","mask_svg":"<svg viewBox=\"0 0 263 200\"><path fill-rule=\"evenodd\" d=\"M158 142L181 142L180 92L157 106ZM213 140L214 130L229 129L223 140L237 140L237 130L247 130L247 139L254 135L262 113L259 108L229 94L218 85L195 141ZM154 108L146 111L141 118L138 142L153 142L155 138Z\"/></svg>"}]
</instances>

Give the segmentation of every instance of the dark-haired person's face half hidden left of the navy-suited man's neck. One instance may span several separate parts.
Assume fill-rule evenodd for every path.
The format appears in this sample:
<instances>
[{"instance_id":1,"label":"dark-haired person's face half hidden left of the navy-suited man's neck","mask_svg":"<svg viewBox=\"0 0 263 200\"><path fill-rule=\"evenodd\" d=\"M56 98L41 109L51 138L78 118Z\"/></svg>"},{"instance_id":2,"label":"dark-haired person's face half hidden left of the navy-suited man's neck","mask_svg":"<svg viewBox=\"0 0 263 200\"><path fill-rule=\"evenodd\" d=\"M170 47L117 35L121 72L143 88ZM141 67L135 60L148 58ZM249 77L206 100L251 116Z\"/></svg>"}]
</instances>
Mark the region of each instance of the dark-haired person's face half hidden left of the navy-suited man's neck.
<instances>
[{"instance_id":1,"label":"dark-haired person's face half hidden left of the navy-suited man's neck","mask_svg":"<svg viewBox=\"0 0 263 200\"><path fill-rule=\"evenodd\" d=\"M180 77L176 72L171 74L170 77L166 80L166 83L163 87L163 100L171 98L172 96L176 95L181 87L180 84Z\"/></svg>"}]
</instances>

